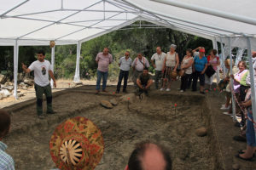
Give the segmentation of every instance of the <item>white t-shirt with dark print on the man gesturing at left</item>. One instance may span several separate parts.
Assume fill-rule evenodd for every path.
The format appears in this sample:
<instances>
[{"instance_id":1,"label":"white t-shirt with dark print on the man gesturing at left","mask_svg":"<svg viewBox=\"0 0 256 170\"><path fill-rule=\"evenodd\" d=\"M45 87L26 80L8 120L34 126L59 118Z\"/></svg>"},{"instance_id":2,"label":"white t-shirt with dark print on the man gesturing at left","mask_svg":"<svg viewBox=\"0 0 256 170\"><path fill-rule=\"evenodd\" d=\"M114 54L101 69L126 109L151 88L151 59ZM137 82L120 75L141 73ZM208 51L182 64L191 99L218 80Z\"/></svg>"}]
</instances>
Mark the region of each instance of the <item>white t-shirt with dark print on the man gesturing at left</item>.
<instances>
[{"instance_id":1,"label":"white t-shirt with dark print on the man gesturing at left","mask_svg":"<svg viewBox=\"0 0 256 170\"><path fill-rule=\"evenodd\" d=\"M28 68L34 71L34 81L36 84L41 87L49 84L49 71L52 71L52 67L48 60L44 59L44 62L36 60Z\"/></svg>"}]
</instances>

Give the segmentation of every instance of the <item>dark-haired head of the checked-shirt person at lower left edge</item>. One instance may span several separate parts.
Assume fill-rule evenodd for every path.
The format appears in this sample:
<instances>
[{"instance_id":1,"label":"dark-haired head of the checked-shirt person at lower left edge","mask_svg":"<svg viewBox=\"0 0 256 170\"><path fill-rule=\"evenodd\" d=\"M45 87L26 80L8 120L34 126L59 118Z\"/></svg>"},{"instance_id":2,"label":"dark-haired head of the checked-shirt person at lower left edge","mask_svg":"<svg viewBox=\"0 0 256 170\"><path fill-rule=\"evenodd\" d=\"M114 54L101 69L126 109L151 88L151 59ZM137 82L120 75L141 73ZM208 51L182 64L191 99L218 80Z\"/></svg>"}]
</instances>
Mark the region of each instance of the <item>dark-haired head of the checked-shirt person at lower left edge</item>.
<instances>
[{"instance_id":1,"label":"dark-haired head of the checked-shirt person at lower left edge","mask_svg":"<svg viewBox=\"0 0 256 170\"><path fill-rule=\"evenodd\" d=\"M5 137L9 133L10 122L9 113L0 110L0 138Z\"/></svg>"}]
</instances>

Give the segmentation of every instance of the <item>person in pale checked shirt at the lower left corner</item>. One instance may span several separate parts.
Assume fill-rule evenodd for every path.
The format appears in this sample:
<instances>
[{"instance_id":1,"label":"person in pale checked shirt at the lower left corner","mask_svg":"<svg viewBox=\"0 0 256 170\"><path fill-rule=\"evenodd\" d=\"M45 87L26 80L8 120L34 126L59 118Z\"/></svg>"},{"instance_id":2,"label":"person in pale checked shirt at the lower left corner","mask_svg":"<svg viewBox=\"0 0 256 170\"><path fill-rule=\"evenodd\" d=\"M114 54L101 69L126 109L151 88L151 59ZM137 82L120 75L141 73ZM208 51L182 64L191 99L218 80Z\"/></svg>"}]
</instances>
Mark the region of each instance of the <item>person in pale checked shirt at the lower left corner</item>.
<instances>
[{"instance_id":1,"label":"person in pale checked shirt at the lower left corner","mask_svg":"<svg viewBox=\"0 0 256 170\"><path fill-rule=\"evenodd\" d=\"M1 170L14 170L15 161L9 156L5 150L7 145L2 142L3 137L9 133L10 116L6 111L0 110L0 169Z\"/></svg>"}]
</instances>

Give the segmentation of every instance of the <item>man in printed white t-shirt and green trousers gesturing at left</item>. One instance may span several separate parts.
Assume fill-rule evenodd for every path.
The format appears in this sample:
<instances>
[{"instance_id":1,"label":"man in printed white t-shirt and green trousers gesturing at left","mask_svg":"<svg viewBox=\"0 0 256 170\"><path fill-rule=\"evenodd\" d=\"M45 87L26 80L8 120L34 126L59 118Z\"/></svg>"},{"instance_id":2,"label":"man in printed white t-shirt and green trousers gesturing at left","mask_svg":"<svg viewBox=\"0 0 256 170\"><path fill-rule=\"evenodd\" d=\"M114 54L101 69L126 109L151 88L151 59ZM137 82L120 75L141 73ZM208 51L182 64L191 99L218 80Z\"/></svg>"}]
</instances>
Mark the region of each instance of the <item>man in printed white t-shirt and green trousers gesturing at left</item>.
<instances>
[{"instance_id":1,"label":"man in printed white t-shirt and green trousers gesturing at left","mask_svg":"<svg viewBox=\"0 0 256 170\"><path fill-rule=\"evenodd\" d=\"M22 63L22 69L26 73L34 71L34 82L37 96L37 112L38 118L43 119L43 95L46 96L47 101L47 114L54 114L52 110L52 93L49 85L49 77L52 78L56 88L56 81L52 71L52 66L49 61L44 59L45 53L43 50L38 51L38 60L32 62L28 68Z\"/></svg>"}]
</instances>

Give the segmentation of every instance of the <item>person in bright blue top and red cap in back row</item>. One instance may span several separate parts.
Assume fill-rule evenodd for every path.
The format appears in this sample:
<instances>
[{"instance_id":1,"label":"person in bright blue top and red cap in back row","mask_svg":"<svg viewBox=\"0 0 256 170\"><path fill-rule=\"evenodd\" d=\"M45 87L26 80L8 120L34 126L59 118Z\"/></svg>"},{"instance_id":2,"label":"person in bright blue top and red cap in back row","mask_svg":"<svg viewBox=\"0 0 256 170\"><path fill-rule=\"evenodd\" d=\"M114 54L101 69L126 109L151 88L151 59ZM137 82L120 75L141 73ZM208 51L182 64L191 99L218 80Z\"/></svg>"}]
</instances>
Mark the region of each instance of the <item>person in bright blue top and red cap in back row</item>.
<instances>
[{"instance_id":1,"label":"person in bright blue top and red cap in back row","mask_svg":"<svg viewBox=\"0 0 256 170\"><path fill-rule=\"evenodd\" d=\"M194 58L193 66L193 84L192 91L196 91L197 80L200 80L200 93L205 94L205 71L207 70L207 57L205 56L205 48L199 49L199 55L196 55Z\"/></svg>"}]
</instances>

